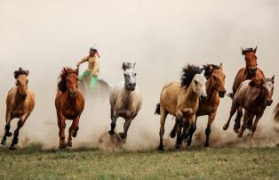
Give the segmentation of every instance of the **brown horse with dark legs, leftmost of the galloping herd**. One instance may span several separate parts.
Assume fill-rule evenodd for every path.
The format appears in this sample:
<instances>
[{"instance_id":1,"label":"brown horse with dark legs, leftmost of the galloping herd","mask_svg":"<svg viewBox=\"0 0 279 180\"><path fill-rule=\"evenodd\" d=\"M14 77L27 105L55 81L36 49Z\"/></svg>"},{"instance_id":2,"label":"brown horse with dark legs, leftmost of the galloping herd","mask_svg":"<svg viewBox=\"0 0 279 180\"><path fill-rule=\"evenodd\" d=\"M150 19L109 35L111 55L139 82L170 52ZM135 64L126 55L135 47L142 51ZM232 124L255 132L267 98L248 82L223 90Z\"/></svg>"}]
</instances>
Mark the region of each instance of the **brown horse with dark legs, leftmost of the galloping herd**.
<instances>
[{"instance_id":1,"label":"brown horse with dark legs, leftmost of the galloping herd","mask_svg":"<svg viewBox=\"0 0 279 180\"><path fill-rule=\"evenodd\" d=\"M35 94L28 90L28 70L14 71L16 86L12 87L6 99L6 125L4 127L4 136L2 144L6 143L7 136L12 136L10 132L10 123L12 119L18 118L18 127L14 131L12 144L10 149L15 149L15 145L19 142L20 128L23 127L28 116L35 107Z\"/></svg>"}]
</instances>

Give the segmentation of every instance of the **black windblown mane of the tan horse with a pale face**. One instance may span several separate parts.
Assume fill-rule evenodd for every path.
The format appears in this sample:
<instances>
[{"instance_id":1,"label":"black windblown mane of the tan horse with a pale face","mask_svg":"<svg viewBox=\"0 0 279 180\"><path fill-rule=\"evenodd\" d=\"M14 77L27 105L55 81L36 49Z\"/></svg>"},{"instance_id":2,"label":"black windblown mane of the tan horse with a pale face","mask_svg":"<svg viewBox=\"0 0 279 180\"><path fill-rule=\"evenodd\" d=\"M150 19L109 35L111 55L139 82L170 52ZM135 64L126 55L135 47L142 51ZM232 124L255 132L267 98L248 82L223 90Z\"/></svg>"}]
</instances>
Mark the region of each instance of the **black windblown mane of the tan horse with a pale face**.
<instances>
[{"instance_id":1,"label":"black windblown mane of the tan horse with a pale face","mask_svg":"<svg viewBox=\"0 0 279 180\"><path fill-rule=\"evenodd\" d=\"M203 69L199 68L198 66L187 64L186 67L182 69L182 75L180 78L181 86L189 86L195 75L201 74L202 71Z\"/></svg>"}]
</instances>

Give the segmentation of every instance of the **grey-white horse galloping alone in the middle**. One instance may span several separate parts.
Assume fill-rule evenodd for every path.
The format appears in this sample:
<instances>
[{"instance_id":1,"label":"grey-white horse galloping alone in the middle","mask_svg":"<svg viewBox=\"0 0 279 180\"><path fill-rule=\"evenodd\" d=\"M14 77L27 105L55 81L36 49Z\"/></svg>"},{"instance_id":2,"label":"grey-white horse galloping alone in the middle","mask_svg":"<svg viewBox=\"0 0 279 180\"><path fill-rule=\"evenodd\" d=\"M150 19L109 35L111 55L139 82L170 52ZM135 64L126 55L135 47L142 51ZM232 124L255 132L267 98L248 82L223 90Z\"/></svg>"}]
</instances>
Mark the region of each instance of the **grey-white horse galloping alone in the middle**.
<instances>
[{"instance_id":1,"label":"grey-white horse galloping alone in the middle","mask_svg":"<svg viewBox=\"0 0 279 180\"><path fill-rule=\"evenodd\" d=\"M122 139L127 137L132 119L137 116L141 108L142 100L139 86L136 84L135 65L136 63L123 63L124 81L114 86L109 96L111 129L108 134L115 134L116 120L121 117L125 119L124 132L119 134Z\"/></svg>"}]
</instances>

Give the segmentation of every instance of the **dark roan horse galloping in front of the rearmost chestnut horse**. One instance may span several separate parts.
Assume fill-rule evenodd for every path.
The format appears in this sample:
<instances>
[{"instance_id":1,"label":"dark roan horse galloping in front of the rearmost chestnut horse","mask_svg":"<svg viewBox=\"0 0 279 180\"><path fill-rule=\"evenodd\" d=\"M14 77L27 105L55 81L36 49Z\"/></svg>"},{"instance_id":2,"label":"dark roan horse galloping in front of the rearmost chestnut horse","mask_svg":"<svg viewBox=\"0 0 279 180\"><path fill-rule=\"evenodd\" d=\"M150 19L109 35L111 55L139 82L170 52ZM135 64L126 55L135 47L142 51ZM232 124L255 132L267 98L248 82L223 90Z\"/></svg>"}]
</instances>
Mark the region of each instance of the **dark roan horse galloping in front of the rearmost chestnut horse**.
<instances>
[{"instance_id":1,"label":"dark roan horse galloping in front of the rearmost chestnut horse","mask_svg":"<svg viewBox=\"0 0 279 180\"><path fill-rule=\"evenodd\" d=\"M238 137L243 136L243 131L246 128L251 130L251 137L253 137L259 119L264 114L267 106L270 106L273 102L272 95L274 91L274 80L275 76L273 76L273 78L252 78L251 80L243 81L235 93L230 116L223 129L227 130L230 119L235 114L238 107L242 106L245 113L243 126L238 133ZM255 116L256 119L253 123Z\"/></svg>"}]
</instances>

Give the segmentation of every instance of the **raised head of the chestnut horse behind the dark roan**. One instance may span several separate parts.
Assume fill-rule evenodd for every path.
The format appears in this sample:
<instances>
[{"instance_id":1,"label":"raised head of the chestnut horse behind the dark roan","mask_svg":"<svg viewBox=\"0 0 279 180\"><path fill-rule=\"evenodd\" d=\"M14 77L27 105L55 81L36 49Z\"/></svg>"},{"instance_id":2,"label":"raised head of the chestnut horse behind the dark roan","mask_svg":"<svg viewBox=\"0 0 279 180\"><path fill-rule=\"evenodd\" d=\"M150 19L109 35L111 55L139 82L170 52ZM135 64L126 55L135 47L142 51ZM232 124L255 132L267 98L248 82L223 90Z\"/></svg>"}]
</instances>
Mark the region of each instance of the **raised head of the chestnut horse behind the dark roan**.
<instances>
[{"instance_id":1,"label":"raised head of the chestnut horse behind the dark roan","mask_svg":"<svg viewBox=\"0 0 279 180\"><path fill-rule=\"evenodd\" d=\"M248 73L251 75L251 77L255 77L257 73L257 52L258 46L256 46L255 49L253 48L247 48L242 49L242 53L244 55L245 61L246 61L246 70L248 70Z\"/></svg>"}]
</instances>

